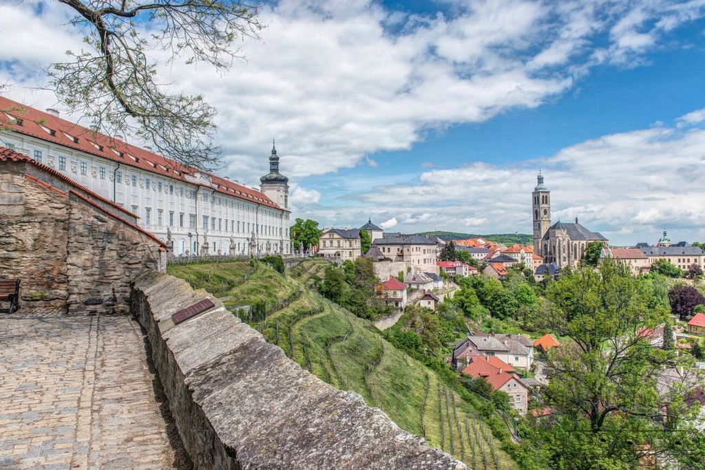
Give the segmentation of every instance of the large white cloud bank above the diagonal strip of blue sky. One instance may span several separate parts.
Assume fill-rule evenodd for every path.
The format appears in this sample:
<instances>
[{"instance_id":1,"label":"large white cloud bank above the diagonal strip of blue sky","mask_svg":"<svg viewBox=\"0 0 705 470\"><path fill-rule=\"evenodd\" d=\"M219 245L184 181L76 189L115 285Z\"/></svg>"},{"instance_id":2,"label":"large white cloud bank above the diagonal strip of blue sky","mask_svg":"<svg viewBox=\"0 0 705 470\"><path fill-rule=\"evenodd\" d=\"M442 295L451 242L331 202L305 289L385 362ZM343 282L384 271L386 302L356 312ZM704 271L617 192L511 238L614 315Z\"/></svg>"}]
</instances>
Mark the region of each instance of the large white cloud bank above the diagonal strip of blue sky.
<instances>
[{"instance_id":1,"label":"large white cloud bank above the diagonal strip of blue sky","mask_svg":"<svg viewBox=\"0 0 705 470\"><path fill-rule=\"evenodd\" d=\"M63 60L64 49L80 48L80 35L63 26L67 8L39 0L0 8L0 63L9 64L0 80L14 84L14 99L53 105L23 86L41 83L39 67ZM701 10L696 1L479 0L410 16L373 2L281 0L262 8L262 41L242 44L247 61L230 73L178 61L161 73L219 108L216 140L231 177L262 174L274 135L282 171L297 179L374 167L369 155L410 149L429 130L540 106L596 63L636 63Z\"/></svg>"}]
</instances>

